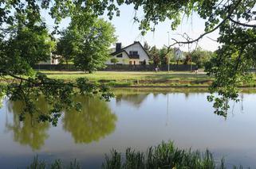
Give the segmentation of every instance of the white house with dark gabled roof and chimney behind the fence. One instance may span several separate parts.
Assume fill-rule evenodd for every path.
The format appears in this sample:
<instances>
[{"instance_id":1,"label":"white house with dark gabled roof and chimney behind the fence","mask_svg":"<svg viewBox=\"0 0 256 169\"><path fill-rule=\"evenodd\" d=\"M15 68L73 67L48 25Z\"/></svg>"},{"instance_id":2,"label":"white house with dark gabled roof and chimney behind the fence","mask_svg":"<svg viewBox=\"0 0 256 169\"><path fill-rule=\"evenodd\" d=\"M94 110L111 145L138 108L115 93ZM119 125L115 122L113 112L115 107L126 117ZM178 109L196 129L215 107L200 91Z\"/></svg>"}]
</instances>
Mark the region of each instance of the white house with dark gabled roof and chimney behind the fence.
<instances>
[{"instance_id":1,"label":"white house with dark gabled roof and chimney behind the fence","mask_svg":"<svg viewBox=\"0 0 256 169\"><path fill-rule=\"evenodd\" d=\"M135 41L122 48L121 43L116 43L116 49L112 52L111 57L107 60L106 64L114 64L111 62L112 58L116 58L118 63L116 64L148 64L149 56L139 41Z\"/></svg>"}]
</instances>

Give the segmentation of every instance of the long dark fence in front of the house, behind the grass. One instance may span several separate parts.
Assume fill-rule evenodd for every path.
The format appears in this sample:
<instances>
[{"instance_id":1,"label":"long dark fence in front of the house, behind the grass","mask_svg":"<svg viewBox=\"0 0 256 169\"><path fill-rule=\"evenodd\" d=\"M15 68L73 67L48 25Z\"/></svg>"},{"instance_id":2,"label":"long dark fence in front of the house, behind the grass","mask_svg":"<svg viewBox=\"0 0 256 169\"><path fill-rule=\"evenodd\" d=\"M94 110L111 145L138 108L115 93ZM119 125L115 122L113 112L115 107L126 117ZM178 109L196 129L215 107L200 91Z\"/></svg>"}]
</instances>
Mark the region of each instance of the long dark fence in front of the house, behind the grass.
<instances>
[{"instance_id":1,"label":"long dark fence in front of the house, behind the grass","mask_svg":"<svg viewBox=\"0 0 256 169\"><path fill-rule=\"evenodd\" d=\"M168 66L160 66L160 71L167 71ZM47 70L47 71L79 71L73 64L36 64L33 66L36 70ZM108 64L99 71L155 71L155 65L113 65ZM185 64L170 64L170 71L194 71L195 65Z\"/></svg>"}]
</instances>

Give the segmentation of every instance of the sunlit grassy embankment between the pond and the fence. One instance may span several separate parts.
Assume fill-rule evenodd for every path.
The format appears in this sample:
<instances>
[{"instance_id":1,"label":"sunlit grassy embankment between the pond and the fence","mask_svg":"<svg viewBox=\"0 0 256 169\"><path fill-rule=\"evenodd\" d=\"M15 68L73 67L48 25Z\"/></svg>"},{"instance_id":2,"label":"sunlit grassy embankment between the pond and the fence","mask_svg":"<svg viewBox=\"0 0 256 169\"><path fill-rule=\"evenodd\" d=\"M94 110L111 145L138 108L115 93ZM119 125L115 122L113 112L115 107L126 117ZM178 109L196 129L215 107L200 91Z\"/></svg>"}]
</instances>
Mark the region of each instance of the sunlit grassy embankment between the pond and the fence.
<instances>
[{"instance_id":1,"label":"sunlit grassy embankment between the pond and the fence","mask_svg":"<svg viewBox=\"0 0 256 169\"><path fill-rule=\"evenodd\" d=\"M98 71L93 74L85 74L79 71L41 71L49 78L64 79L73 81L80 77L86 77L96 83L107 83L112 86L184 86L203 87L210 86L213 77L204 72L190 71ZM256 86L256 76L254 82L241 86Z\"/></svg>"}]
</instances>

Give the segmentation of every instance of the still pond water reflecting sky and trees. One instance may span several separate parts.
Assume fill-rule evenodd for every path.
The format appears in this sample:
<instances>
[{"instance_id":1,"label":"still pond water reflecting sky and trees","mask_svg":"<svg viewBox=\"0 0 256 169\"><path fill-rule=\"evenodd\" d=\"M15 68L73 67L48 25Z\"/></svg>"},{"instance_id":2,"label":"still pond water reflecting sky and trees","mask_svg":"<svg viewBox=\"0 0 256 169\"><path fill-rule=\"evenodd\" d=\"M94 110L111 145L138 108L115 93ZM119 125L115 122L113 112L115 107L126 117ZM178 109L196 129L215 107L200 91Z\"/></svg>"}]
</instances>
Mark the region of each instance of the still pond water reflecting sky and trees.
<instances>
[{"instance_id":1,"label":"still pond water reflecting sky and trees","mask_svg":"<svg viewBox=\"0 0 256 169\"><path fill-rule=\"evenodd\" d=\"M34 156L77 159L84 168L100 168L112 148L145 151L162 140L179 148L208 148L227 167L256 167L256 94L243 93L242 102L230 102L225 119L213 113L207 93L190 90L115 90L116 98L104 102L77 98L80 113L63 113L57 127L26 117L20 122L20 102L4 100L0 109L0 166L24 168ZM39 102L41 109L48 109Z\"/></svg>"}]
</instances>

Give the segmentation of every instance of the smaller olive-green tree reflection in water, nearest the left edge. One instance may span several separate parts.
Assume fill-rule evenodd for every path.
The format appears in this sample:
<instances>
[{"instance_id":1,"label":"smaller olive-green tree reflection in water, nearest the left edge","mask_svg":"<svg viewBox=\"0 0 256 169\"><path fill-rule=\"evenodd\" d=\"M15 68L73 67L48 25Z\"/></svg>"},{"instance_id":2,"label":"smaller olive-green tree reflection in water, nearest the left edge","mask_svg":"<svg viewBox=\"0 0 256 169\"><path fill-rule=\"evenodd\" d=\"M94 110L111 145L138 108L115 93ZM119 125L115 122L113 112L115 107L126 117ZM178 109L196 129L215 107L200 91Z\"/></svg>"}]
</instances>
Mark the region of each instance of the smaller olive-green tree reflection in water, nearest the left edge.
<instances>
[{"instance_id":1,"label":"smaller olive-green tree reflection in water, nearest the left edge","mask_svg":"<svg viewBox=\"0 0 256 169\"><path fill-rule=\"evenodd\" d=\"M23 102L8 102L9 112L13 113L14 121L6 123L6 129L14 133L14 141L22 144L29 145L33 150L39 150L48 138L47 130L49 129L49 122L38 122L38 115L34 113L30 115L26 113L24 121L19 120L19 114L22 113L24 108ZM37 106L40 109L47 109L47 104L39 99Z\"/></svg>"}]
</instances>

